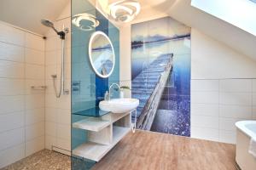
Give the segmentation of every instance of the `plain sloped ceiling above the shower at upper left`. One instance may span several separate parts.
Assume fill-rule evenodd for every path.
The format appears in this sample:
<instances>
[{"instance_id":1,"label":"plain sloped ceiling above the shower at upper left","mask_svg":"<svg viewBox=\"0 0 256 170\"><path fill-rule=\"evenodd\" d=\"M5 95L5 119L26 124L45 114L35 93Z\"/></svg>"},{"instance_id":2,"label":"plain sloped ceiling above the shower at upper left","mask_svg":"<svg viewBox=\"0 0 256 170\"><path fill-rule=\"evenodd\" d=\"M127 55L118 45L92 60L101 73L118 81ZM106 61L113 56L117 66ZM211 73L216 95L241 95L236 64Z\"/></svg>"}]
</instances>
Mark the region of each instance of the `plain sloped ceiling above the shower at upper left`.
<instances>
[{"instance_id":1,"label":"plain sloped ceiling above the shower at upper left","mask_svg":"<svg viewBox=\"0 0 256 170\"><path fill-rule=\"evenodd\" d=\"M44 35L41 19L56 20L71 0L0 0L0 20Z\"/></svg>"}]
</instances>

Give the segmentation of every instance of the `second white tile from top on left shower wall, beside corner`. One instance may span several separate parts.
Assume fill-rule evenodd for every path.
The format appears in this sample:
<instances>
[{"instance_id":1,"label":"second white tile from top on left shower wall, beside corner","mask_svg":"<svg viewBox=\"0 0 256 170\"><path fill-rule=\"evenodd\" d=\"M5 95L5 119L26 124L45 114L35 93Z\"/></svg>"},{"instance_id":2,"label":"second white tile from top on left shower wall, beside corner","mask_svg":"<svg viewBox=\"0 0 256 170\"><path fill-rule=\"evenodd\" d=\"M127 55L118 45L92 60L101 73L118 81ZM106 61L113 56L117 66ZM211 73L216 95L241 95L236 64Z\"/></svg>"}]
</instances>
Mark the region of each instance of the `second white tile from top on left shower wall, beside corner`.
<instances>
[{"instance_id":1,"label":"second white tile from top on left shower wall, beside corner","mask_svg":"<svg viewBox=\"0 0 256 170\"><path fill-rule=\"evenodd\" d=\"M44 65L44 51L26 48L25 61L27 64Z\"/></svg>"}]
</instances>

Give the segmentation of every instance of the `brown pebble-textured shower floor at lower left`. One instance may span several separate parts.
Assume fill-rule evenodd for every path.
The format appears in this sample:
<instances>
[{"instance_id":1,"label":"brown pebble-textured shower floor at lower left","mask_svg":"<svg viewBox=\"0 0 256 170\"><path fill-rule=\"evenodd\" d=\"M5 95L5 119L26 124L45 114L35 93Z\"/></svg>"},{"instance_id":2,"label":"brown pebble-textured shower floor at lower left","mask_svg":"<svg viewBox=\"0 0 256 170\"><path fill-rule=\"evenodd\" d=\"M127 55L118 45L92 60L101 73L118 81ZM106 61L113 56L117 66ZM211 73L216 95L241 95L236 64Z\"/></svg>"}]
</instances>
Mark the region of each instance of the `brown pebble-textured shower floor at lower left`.
<instances>
[{"instance_id":1,"label":"brown pebble-textured shower floor at lower left","mask_svg":"<svg viewBox=\"0 0 256 170\"><path fill-rule=\"evenodd\" d=\"M55 151L41 150L32 156L17 161L1 170L68 170L71 169L70 156Z\"/></svg>"}]
</instances>

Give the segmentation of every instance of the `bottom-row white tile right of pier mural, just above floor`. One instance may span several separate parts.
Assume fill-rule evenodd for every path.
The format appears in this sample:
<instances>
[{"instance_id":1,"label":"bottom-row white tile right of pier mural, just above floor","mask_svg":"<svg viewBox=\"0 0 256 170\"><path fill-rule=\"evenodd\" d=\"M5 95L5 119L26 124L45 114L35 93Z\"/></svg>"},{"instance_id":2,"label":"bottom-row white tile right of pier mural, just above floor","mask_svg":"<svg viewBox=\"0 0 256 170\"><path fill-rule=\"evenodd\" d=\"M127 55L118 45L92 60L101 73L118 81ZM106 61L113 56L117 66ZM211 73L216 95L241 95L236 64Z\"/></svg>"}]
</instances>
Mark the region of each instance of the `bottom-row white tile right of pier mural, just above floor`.
<instances>
[{"instance_id":1,"label":"bottom-row white tile right of pier mural, just above floor","mask_svg":"<svg viewBox=\"0 0 256 170\"><path fill-rule=\"evenodd\" d=\"M191 138L218 141L218 129L191 127Z\"/></svg>"}]
</instances>

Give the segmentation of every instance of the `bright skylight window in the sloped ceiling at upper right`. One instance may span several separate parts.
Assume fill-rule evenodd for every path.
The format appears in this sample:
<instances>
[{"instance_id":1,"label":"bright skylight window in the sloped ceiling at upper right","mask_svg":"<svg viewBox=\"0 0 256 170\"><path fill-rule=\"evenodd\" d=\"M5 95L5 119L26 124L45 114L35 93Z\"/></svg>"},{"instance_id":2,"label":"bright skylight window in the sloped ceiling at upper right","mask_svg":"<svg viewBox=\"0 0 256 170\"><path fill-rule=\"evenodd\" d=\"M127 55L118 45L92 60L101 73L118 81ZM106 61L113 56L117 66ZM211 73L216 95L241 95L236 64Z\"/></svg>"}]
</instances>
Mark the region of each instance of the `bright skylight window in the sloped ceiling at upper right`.
<instances>
[{"instance_id":1,"label":"bright skylight window in the sloped ceiling at upper right","mask_svg":"<svg viewBox=\"0 0 256 170\"><path fill-rule=\"evenodd\" d=\"M192 0L191 6L256 36L256 0Z\"/></svg>"}]
</instances>

